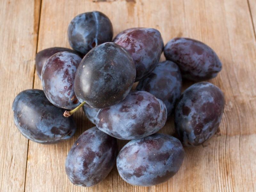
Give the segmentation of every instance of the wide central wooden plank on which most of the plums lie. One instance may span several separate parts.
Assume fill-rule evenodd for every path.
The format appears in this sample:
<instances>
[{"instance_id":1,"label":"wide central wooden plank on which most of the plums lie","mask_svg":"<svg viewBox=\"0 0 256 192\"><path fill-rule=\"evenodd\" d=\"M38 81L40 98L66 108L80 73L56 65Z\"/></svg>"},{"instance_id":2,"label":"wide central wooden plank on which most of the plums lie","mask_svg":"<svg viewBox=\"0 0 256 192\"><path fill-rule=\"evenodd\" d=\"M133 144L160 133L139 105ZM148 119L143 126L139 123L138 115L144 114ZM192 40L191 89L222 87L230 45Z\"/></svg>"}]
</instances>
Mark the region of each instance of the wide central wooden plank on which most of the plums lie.
<instances>
[{"instance_id":1,"label":"wide central wooden plank on which most of the plums lie","mask_svg":"<svg viewBox=\"0 0 256 192\"><path fill-rule=\"evenodd\" d=\"M71 145L93 126L80 110L75 115L78 131L71 140L48 146L29 142L26 191L256 191L256 46L247 2L44 0L38 50L69 47L68 23L77 14L92 10L108 15L115 34L130 27L153 27L160 30L165 43L173 37L185 36L211 46L223 62L221 73L210 81L226 97L220 132L205 147L186 148L180 171L164 184L149 188L132 186L118 176L115 168L100 184L82 188L70 183L64 166ZM184 87L190 84L184 82ZM41 88L37 76L35 88ZM172 120L160 132L172 134ZM124 144L125 141L119 141L119 148Z\"/></svg>"}]
</instances>

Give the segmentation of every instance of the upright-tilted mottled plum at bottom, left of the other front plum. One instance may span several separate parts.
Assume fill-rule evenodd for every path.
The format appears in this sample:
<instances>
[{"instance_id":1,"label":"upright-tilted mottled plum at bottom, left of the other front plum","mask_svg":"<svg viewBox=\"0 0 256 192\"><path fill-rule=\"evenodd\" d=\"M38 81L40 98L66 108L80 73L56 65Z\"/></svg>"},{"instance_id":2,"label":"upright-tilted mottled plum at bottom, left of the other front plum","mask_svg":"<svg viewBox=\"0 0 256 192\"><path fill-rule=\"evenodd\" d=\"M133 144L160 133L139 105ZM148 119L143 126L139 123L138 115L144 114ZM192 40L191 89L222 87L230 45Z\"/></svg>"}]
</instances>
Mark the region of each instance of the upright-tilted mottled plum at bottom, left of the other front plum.
<instances>
[{"instance_id":1,"label":"upright-tilted mottled plum at bottom, left of the other front plum","mask_svg":"<svg viewBox=\"0 0 256 192\"><path fill-rule=\"evenodd\" d=\"M118 147L116 139L92 127L76 140L66 158L66 173L79 186L96 185L115 165Z\"/></svg>"}]
</instances>

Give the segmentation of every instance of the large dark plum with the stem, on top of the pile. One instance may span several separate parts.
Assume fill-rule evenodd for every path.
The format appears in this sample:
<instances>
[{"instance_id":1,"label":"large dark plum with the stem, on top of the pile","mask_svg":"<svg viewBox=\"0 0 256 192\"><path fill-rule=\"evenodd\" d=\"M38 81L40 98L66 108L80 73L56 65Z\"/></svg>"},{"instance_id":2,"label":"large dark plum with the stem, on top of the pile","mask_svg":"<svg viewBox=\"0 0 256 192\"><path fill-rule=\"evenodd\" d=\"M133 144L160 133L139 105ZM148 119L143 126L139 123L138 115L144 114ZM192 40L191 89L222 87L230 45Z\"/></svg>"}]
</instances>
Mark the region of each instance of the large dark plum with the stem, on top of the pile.
<instances>
[{"instance_id":1,"label":"large dark plum with the stem, on top of the pile","mask_svg":"<svg viewBox=\"0 0 256 192\"><path fill-rule=\"evenodd\" d=\"M136 76L130 54L115 43L93 48L81 61L75 77L75 93L92 108L107 108L122 101Z\"/></svg>"}]
</instances>

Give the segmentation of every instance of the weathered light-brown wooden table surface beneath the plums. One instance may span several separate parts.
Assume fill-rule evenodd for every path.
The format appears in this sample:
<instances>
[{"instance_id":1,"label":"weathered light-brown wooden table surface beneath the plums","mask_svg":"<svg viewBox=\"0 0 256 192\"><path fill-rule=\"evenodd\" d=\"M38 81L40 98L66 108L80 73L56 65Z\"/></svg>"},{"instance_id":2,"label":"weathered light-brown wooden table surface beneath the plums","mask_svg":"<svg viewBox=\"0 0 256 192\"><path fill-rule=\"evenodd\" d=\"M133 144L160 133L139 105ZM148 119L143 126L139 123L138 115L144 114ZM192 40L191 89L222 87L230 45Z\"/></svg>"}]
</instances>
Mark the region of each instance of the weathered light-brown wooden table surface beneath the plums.
<instances>
[{"instance_id":1,"label":"weathered light-brown wooden table surface beneath the plums","mask_svg":"<svg viewBox=\"0 0 256 192\"><path fill-rule=\"evenodd\" d=\"M36 52L69 47L68 23L93 10L108 15L114 35L131 27L157 28L165 43L177 36L195 38L223 62L220 74L210 80L226 97L220 132L204 146L185 148L180 171L163 184L129 185L116 168L94 187L71 184L65 157L77 137L93 126L81 110L75 115L76 135L55 145L29 141L14 125L14 97L25 89L42 89ZM255 0L1 0L0 24L0 191L256 191ZM173 133L172 118L161 132ZM124 144L119 141L120 148Z\"/></svg>"}]
</instances>

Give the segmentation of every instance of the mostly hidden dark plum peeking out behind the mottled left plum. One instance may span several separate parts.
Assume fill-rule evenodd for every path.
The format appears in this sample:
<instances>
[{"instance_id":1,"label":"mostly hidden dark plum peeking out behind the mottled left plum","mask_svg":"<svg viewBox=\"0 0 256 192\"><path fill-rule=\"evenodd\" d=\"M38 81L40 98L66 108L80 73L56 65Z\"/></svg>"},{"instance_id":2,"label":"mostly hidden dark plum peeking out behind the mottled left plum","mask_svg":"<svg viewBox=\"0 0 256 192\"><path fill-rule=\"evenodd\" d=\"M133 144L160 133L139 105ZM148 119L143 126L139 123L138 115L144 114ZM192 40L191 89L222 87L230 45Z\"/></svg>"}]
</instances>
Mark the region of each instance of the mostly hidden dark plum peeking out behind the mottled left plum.
<instances>
[{"instance_id":1,"label":"mostly hidden dark plum peeking out behind the mottled left plum","mask_svg":"<svg viewBox=\"0 0 256 192\"><path fill-rule=\"evenodd\" d=\"M41 79L42 68L44 66L45 61L47 59L49 59L55 53L62 52L62 51L76 53L76 51L74 51L72 49L65 48L65 47L51 47L51 48L44 49L44 50L36 53L36 73L40 79Z\"/></svg>"}]
</instances>

